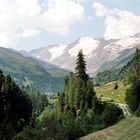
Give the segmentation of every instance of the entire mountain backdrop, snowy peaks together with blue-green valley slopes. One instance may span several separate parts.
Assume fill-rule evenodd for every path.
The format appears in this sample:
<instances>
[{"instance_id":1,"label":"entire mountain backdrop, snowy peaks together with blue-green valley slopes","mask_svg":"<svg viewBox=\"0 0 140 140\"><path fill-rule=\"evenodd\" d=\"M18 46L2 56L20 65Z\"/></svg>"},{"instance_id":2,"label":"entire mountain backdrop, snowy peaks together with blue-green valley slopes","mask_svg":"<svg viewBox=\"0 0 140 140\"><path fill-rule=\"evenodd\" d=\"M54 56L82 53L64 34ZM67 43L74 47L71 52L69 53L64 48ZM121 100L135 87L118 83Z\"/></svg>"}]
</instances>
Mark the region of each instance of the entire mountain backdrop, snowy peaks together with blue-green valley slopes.
<instances>
[{"instance_id":1,"label":"entire mountain backdrop, snowy peaks together with blue-green valley slopes","mask_svg":"<svg viewBox=\"0 0 140 140\"><path fill-rule=\"evenodd\" d=\"M80 49L85 55L87 72L93 77L105 70L122 69L131 61L136 48L140 48L140 33L110 40L83 37L68 45L51 45L30 52L1 47L0 69L20 85L58 92L63 90L65 76L74 70Z\"/></svg>"}]
</instances>

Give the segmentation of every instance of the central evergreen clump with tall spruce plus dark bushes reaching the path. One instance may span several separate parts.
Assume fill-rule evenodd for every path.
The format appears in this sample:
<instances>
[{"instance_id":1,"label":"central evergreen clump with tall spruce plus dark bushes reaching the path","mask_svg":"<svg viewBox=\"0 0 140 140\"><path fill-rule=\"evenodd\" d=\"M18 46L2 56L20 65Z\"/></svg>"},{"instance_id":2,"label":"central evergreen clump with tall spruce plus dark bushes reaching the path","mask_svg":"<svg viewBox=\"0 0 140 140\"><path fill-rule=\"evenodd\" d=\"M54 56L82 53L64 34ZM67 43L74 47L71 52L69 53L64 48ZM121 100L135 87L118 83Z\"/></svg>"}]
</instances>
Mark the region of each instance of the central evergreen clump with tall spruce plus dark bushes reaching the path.
<instances>
[{"instance_id":1,"label":"central evergreen clump with tall spruce plus dark bushes reaching the path","mask_svg":"<svg viewBox=\"0 0 140 140\"><path fill-rule=\"evenodd\" d=\"M97 100L93 83L85 72L82 51L79 52L76 73L65 80L64 92L59 95L57 120L66 140L75 140L90 131L110 126L122 115L116 105Z\"/></svg>"}]
</instances>

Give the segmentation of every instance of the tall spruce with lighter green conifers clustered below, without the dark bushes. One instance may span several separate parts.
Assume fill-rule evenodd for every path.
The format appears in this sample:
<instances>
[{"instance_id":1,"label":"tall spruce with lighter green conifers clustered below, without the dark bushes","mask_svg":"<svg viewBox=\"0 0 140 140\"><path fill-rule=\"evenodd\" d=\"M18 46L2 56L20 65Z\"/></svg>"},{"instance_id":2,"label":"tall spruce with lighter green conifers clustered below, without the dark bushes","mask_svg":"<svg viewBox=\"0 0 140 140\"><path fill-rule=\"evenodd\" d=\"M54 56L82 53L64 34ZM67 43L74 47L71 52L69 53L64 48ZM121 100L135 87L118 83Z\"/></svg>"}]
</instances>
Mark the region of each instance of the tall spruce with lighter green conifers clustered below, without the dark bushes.
<instances>
[{"instance_id":1,"label":"tall spruce with lighter green conifers clustered below, without the dark bushes","mask_svg":"<svg viewBox=\"0 0 140 140\"><path fill-rule=\"evenodd\" d=\"M64 93L59 97L60 111L71 110L75 116L84 114L94 108L96 95L93 83L86 74L86 64L82 51L78 53L75 73L65 80Z\"/></svg>"}]
</instances>

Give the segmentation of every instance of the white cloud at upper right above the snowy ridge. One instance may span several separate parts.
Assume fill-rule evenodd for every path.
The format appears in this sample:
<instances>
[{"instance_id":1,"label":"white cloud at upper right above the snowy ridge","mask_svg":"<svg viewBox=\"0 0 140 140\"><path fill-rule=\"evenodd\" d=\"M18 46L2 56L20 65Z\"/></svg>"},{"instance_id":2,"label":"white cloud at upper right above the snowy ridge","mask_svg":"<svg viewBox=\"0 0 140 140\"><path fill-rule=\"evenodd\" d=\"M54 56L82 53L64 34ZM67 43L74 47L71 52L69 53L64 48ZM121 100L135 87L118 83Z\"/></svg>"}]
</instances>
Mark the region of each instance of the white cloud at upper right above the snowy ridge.
<instances>
[{"instance_id":1,"label":"white cloud at upper right above the snowy ridge","mask_svg":"<svg viewBox=\"0 0 140 140\"><path fill-rule=\"evenodd\" d=\"M93 7L97 16L105 17L105 38L125 38L140 32L140 16L119 9L108 9L99 2Z\"/></svg>"}]
</instances>

